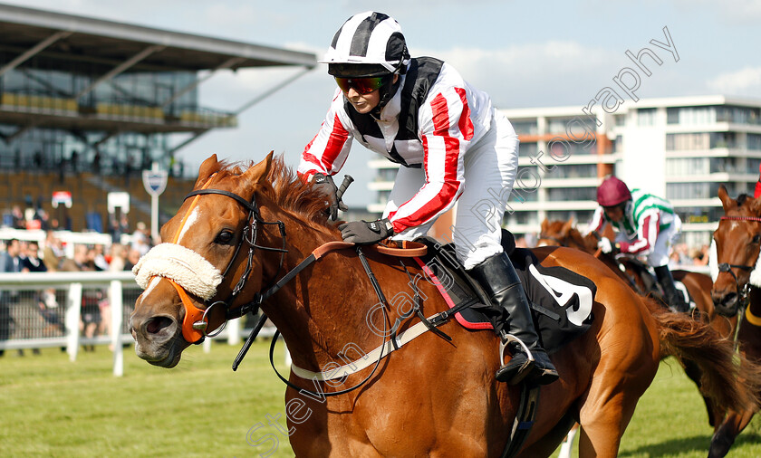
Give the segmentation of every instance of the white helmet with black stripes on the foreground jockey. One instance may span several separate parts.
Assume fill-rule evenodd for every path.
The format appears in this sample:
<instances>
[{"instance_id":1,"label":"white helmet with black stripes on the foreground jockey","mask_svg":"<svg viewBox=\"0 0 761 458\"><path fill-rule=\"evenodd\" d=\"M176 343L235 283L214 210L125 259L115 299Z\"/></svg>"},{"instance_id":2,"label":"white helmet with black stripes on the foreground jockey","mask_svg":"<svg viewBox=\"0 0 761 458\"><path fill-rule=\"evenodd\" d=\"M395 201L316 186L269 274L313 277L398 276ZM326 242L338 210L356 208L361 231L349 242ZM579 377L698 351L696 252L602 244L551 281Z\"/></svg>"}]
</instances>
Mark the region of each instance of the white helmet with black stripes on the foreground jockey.
<instances>
[{"instance_id":1,"label":"white helmet with black stripes on the foreground jockey","mask_svg":"<svg viewBox=\"0 0 761 458\"><path fill-rule=\"evenodd\" d=\"M368 11L350 17L332 39L322 63L342 77L403 73L409 52L401 26L388 14Z\"/></svg>"}]
</instances>

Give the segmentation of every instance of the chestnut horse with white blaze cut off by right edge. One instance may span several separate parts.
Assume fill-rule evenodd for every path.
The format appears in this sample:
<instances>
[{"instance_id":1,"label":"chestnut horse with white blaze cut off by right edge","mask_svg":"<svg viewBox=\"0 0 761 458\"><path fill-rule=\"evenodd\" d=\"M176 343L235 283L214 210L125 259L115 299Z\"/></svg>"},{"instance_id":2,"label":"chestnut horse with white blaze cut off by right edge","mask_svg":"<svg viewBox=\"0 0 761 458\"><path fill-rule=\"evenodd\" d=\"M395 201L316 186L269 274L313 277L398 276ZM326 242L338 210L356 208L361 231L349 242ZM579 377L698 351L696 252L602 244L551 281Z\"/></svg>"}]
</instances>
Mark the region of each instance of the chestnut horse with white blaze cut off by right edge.
<instances>
[{"instance_id":1,"label":"chestnut horse with white blaze cut off by right edge","mask_svg":"<svg viewBox=\"0 0 761 458\"><path fill-rule=\"evenodd\" d=\"M727 195L724 185L718 188L724 216L714 232L711 296L718 313L737 317L743 312L737 329L740 354L751 361L761 361L761 281L758 254L761 248L761 199L745 194L737 200ZM715 259L715 261L714 261ZM756 413L756 406L730 412L711 440L711 457L724 456Z\"/></svg>"}]
</instances>

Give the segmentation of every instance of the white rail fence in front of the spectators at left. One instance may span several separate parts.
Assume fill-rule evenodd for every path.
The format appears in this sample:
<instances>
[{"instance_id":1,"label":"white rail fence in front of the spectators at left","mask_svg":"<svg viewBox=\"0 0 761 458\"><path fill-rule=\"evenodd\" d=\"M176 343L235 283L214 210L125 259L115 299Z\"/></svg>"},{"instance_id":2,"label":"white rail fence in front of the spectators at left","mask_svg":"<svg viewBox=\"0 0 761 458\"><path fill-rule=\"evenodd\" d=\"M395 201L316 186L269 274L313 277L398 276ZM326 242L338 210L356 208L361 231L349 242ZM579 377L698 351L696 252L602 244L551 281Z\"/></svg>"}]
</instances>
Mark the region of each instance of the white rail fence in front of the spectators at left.
<instances>
[{"instance_id":1,"label":"white rail fence in front of the spectators at left","mask_svg":"<svg viewBox=\"0 0 761 458\"><path fill-rule=\"evenodd\" d=\"M0 273L0 350L60 347L76 361L81 346L109 345L113 375L120 377L123 348L133 343L128 321L140 292L132 272ZM83 337L82 327L92 322L92 317L82 320L83 310L84 315L107 313L99 320L110 319L110 335ZM243 320L230 321L215 339L239 344L250 332L243 329ZM259 335L272 337L274 332L265 327ZM211 339L203 347L210 351Z\"/></svg>"}]
</instances>

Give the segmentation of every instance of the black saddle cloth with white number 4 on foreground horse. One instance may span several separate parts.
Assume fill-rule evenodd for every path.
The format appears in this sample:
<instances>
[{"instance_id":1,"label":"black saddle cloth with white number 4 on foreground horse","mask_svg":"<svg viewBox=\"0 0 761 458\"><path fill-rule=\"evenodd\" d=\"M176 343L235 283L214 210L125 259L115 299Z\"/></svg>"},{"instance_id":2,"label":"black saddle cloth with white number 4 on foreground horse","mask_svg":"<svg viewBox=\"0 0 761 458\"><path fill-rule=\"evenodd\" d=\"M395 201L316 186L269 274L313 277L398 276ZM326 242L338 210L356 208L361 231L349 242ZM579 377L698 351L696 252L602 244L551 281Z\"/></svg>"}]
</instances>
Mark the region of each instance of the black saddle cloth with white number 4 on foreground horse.
<instances>
[{"instance_id":1,"label":"black saddle cloth with white number 4 on foreground horse","mask_svg":"<svg viewBox=\"0 0 761 458\"><path fill-rule=\"evenodd\" d=\"M428 246L428 254L416 260L437 285L455 318L467 329L494 329L501 320L486 293L467 276L457 261L452 243L441 245L428 238L417 242ZM560 266L542 266L534 253L515 247L513 234L502 231L502 245L515 266L531 303L532 317L542 346L549 354L563 348L592 325L594 282Z\"/></svg>"}]
</instances>

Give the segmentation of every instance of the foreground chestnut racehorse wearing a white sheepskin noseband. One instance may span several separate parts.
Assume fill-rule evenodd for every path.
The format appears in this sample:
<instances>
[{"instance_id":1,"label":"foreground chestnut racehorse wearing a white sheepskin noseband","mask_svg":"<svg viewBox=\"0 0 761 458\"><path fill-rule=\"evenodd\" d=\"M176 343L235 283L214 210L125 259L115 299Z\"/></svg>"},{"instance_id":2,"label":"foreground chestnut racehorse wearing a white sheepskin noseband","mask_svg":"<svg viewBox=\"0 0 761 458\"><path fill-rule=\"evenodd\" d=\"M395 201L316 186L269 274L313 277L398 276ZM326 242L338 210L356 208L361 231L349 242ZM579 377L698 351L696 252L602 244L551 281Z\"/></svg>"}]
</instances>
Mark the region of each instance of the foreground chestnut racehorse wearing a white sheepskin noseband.
<instances>
[{"instance_id":1,"label":"foreground chestnut racehorse wearing a white sheepskin noseband","mask_svg":"<svg viewBox=\"0 0 761 458\"><path fill-rule=\"evenodd\" d=\"M396 329L395 341L404 340L402 333L419 324L418 316L379 301L378 290L387 297L414 291L423 298L425 317L448 310L435 284L410 280L425 278L415 262L370 249L365 260L354 245L317 250L342 243L323 214L326 206L319 190L284 167L282 157L270 154L247 167L209 157L195 190L161 228L162 240L171 243L159 244L152 250L168 246L139 264L145 291L130 317L138 356L175 367L182 351L202 337L199 330L216 329L238 308L263 299L261 309L293 358L285 412L297 456L499 456L520 387L496 382L501 362L491 331L471 331L449 320L438 331L451 340L422 333L340 383L294 373L296 367L324 372L341 361L359 365L358 348L391 348L377 329ZM634 294L589 254L568 248L535 254L545 266L588 277L597 295L591 329L552 356L561 378L541 387L520 456L550 455L574 420L583 425L582 456L616 456L663 351L697 360L703 388L718 404L756 401L748 386L761 386L761 375L738 365L731 343L714 329ZM319 259L304 263L313 256ZM166 273L160 272L162 262L172 264L164 266ZM741 369L746 385L737 383ZM316 386L323 396L305 395ZM358 389L346 391L351 387Z\"/></svg>"}]
</instances>

